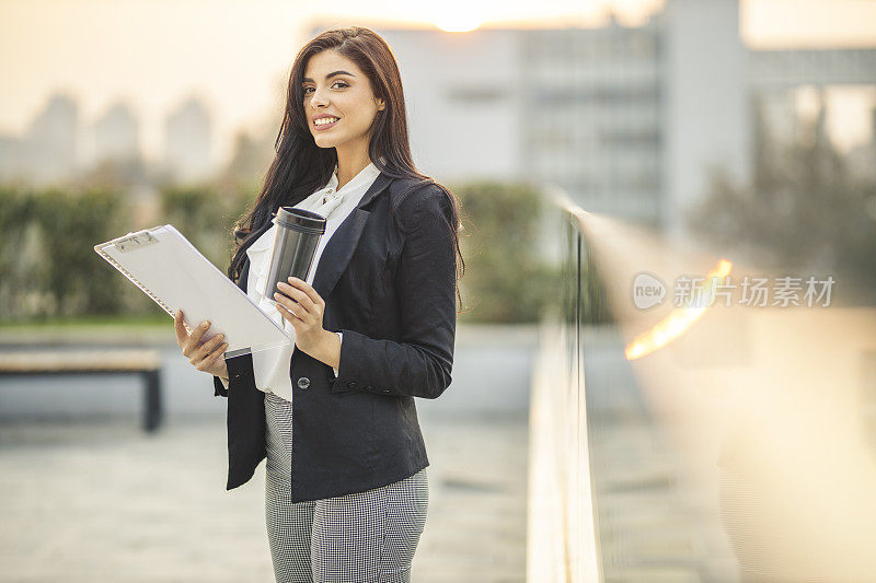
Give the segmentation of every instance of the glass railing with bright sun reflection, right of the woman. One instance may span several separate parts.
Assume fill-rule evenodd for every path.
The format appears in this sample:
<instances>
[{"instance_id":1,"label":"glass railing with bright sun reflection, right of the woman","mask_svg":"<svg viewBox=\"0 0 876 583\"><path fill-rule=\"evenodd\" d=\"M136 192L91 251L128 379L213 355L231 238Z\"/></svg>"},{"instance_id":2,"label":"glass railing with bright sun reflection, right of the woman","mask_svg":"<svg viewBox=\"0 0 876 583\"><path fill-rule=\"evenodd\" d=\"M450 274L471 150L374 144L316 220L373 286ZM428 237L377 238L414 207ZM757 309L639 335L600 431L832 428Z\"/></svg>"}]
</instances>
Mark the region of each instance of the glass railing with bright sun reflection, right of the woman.
<instances>
[{"instance_id":1,"label":"glass railing with bright sun reflection, right of the woman","mask_svg":"<svg viewBox=\"0 0 876 583\"><path fill-rule=\"evenodd\" d=\"M553 198L529 581L876 580L876 310Z\"/></svg>"}]
</instances>

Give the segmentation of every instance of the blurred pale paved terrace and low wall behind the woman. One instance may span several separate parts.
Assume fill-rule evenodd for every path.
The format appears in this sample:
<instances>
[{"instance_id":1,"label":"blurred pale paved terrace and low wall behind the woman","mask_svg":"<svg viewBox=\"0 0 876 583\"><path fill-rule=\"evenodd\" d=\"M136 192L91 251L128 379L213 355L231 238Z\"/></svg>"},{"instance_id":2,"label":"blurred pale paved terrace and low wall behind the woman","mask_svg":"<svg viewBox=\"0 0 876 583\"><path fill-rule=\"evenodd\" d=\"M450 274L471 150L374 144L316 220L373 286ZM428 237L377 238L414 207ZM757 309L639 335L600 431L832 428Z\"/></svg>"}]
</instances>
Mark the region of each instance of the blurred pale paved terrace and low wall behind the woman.
<instances>
[{"instance_id":1,"label":"blurred pale paved terrace and low wall behind the woman","mask_svg":"<svg viewBox=\"0 0 876 583\"><path fill-rule=\"evenodd\" d=\"M525 581L534 339L460 330L453 384L417 399L431 462L418 583ZM0 349L41 341L15 335ZM135 377L0 385L0 582L273 582L264 462L226 491L224 399L163 333L136 341L164 362L166 418L152 435L139 428Z\"/></svg>"}]
</instances>

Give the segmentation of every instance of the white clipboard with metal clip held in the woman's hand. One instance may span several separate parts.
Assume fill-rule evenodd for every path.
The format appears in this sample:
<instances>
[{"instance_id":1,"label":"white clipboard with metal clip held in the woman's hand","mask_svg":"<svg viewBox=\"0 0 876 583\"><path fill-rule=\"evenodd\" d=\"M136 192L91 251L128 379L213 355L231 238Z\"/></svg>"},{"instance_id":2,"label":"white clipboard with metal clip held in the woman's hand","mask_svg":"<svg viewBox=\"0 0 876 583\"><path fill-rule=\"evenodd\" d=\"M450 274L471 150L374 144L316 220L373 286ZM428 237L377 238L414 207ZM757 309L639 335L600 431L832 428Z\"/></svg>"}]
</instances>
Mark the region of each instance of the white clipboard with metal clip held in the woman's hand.
<instances>
[{"instance_id":1,"label":"white clipboard with metal clip held in the woman's hand","mask_svg":"<svg viewBox=\"0 0 876 583\"><path fill-rule=\"evenodd\" d=\"M224 358L295 339L172 224L143 229L94 245L94 250L151 298L171 318L183 311L186 330L210 320L209 337L224 334Z\"/></svg>"}]
</instances>

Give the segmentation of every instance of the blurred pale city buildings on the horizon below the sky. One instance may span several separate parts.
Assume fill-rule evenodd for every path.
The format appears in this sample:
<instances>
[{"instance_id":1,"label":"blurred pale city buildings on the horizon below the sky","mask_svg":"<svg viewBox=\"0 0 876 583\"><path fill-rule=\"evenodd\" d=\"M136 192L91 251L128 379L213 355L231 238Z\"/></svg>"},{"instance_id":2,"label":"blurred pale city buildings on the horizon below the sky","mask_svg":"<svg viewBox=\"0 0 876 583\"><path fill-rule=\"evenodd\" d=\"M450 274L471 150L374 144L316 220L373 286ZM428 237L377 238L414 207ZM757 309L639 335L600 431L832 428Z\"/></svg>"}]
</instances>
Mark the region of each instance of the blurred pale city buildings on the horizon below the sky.
<instances>
[{"instance_id":1,"label":"blurred pale city buildings on the horizon below the sky","mask_svg":"<svg viewBox=\"0 0 876 583\"><path fill-rule=\"evenodd\" d=\"M400 62L415 160L441 179L553 182L589 211L683 235L713 168L750 176L756 104L787 142L823 106L853 171L876 172L876 49L749 48L737 0L669 0L639 26L611 14L598 27L374 28ZM850 137L841 116L866 123ZM207 179L247 147L261 155L244 172L266 167L275 127L220 160L214 125L201 100L185 100L147 163L132 106L88 120L56 93L23 135L0 136L0 179L50 183L112 163L142 189Z\"/></svg>"}]
</instances>

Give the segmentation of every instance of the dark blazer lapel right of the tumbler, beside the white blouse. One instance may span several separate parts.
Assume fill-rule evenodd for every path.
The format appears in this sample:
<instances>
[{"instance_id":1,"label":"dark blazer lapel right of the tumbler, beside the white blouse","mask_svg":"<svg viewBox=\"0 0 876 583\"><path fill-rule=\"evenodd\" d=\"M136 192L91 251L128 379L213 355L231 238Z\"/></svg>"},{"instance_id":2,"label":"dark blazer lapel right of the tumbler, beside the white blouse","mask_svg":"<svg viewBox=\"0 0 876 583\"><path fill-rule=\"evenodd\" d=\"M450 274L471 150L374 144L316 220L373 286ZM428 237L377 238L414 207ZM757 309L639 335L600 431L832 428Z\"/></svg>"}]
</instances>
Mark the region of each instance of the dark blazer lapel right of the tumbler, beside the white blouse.
<instances>
[{"instance_id":1,"label":"dark blazer lapel right of the tumbler, beside the white blouse","mask_svg":"<svg viewBox=\"0 0 876 583\"><path fill-rule=\"evenodd\" d=\"M392 177L380 173L371 186L362 195L361 200L346 219L337 226L337 230L328 240L322 250L320 263L316 265L316 275L313 276L313 289L323 300L332 293L341 273L347 268L356 246L359 244L365 230L365 223L371 215L370 210L366 210L371 200L382 193L392 182Z\"/></svg>"}]
</instances>

